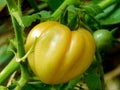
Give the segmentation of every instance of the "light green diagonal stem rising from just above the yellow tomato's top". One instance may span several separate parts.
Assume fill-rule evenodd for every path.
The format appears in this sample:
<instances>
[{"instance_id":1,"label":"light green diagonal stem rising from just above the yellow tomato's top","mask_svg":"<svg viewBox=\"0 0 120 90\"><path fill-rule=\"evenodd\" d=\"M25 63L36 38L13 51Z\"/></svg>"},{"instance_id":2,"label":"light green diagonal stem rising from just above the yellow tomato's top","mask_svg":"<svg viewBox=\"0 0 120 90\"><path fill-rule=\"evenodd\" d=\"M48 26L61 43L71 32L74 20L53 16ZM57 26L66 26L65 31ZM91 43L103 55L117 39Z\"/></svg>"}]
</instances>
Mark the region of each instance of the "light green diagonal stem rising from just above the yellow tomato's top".
<instances>
[{"instance_id":1,"label":"light green diagonal stem rising from just above the yellow tomato's top","mask_svg":"<svg viewBox=\"0 0 120 90\"><path fill-rule=\"evenodd\" d=\"M70 5L74 4L76 1L75 0L64 0L64 2L60 5L60 7L52 14L52 18L54 20L58 20L64 9Z\"/></svg>"}]
</instances>

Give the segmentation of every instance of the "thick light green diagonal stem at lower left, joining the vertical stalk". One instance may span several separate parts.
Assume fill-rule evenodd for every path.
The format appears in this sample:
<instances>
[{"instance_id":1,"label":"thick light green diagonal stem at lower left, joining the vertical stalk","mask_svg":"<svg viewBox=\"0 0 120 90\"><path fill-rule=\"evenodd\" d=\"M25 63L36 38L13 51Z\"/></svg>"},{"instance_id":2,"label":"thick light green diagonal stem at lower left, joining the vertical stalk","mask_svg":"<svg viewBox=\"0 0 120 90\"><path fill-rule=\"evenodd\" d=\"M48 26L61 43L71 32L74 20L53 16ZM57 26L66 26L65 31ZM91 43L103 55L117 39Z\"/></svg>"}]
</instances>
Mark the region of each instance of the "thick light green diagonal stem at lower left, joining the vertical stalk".
<instances>
[{"instance_id":1,"label":"thick light green diagonal stem at lower left, joining the vertical stalk","mask_svg":"<svg viewBox=\"0 0 120 90\"><path fill-rule=\"evenodd\" d=\"M2 84L6 79L19 68L19 63L13 58L12 61L0 72L0 84Z\"/></svg>"}]
</instances>

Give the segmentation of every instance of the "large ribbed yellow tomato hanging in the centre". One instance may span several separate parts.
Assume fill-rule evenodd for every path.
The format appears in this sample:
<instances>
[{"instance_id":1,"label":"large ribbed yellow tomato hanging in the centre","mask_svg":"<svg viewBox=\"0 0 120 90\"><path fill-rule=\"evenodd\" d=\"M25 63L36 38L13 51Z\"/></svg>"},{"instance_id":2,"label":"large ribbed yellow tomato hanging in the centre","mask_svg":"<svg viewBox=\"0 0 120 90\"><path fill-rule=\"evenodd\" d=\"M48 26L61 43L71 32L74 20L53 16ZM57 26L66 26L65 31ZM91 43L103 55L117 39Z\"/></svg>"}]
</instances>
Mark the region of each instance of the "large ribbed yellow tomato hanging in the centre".
<instances>
[{"instance_id":1,"label":"large ribbed yellow tomato hanging in the centre","mask_svg":"<svg viewBox=\"0 0 120 90\"><path fill-rule=\"evenodd\" d=\"M37 34L35 34L37 32ZM28 63L46 84L60 84L79 76L89 67L95 53L93 36L84 28L70 31L55 21L36 25L26 40L26 52L37 37Z\"/></svg>"}]
</instances>

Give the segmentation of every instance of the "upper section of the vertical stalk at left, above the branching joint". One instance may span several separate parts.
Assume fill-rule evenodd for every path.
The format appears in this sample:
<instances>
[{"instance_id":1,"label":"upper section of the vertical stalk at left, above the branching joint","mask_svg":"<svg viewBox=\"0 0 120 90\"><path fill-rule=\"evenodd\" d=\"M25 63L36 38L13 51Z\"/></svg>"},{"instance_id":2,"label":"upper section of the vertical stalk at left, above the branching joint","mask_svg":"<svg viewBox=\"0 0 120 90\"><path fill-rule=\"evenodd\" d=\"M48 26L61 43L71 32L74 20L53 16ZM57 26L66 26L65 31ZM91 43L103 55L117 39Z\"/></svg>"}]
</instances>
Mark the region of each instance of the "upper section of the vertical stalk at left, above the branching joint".
<instances>
[{"instance_id":1,"label":"upper section of the vertical stalk at left, above the branching joint","mask_svg":"<svg viewBox=\"0 0 120 90\"><path fill-rule=\"evenodd\" d=\"M8 10L11 14L11 19L12 19L12 24L14 27L14 32L15 32L15 38L17 41L17 52L18 52L18 57L22 57L25 54L25 49L24 49L24 43L23 43L23 32L22 29L23 27L21 27L18 22L17 22L17 18L15 16L13 16L12 12L13 9L16 10L16 12L18 12L18 14L21 14L19 11L20 9L18 9L16 3L13 0L6 0L7 2L7 6L8 6ZM18 2L18 4L20 4L20 1ZM18 5L20 8L20 5ZM21 16L21 15L19 15Z\"/></svg>"}]
</instances>

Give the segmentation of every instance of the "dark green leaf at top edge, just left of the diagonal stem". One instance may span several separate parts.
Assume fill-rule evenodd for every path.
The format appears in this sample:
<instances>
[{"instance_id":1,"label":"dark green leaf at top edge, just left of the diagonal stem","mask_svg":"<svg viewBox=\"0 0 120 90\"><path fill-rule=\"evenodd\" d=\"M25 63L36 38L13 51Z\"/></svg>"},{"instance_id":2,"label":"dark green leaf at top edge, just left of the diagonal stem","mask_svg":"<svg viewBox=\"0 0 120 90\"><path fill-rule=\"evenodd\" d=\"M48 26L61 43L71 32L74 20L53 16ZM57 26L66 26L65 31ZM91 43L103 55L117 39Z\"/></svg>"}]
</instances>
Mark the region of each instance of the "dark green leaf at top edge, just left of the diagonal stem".
<instances>
[{"instance_id":1,"label":"dark green leaf at top edge, just left of the diagonal stem","mask_svg":"<svg viewBox=\"0 0 120 90\"><path fill-rule=\"evenodd\" d=\"M52 10L56 10L64 0L44 0Z\"/></svg>"}]
</instances>

